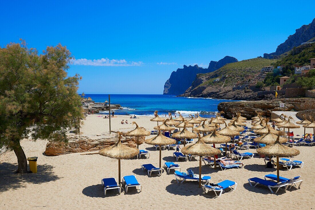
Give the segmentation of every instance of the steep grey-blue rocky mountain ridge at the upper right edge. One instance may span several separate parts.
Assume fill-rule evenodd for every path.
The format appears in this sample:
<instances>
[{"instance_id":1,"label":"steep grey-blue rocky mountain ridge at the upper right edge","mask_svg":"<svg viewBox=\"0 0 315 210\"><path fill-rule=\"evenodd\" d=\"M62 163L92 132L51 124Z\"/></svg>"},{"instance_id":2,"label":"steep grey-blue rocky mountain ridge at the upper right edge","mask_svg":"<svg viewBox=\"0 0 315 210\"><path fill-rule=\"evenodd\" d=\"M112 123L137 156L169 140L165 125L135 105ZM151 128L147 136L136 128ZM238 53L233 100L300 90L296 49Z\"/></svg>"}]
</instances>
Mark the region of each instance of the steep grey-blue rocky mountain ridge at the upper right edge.
<instances>
[{"instance_id":1,"label":"steep grey-blue rocky mountain ridge at the upper right edge","mask_svg":"<svg viewBox=\"0 0 315 210\"><path fill-rule=\"evenodd\" d=\"M279 55L288 52L289 50L293 49L301 45L303 42L313 41L312 39L315 37L315 18L313 19L312 23L308 25L303 25L301 28L296 29L293 35L290 35L284 43L280 44L276 52L274 53L265 53L264 58L267 59L278 59Z\"/></svg>"}]
</instances>

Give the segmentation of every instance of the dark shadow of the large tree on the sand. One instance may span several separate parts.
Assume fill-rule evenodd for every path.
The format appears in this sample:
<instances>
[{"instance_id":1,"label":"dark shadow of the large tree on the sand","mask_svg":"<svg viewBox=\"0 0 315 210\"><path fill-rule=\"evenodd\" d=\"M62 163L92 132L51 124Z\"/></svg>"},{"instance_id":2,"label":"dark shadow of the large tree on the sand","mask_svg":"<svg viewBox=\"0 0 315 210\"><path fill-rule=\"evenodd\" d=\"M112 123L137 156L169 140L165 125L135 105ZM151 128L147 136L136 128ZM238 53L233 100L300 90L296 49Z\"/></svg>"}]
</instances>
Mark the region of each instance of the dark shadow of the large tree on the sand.
<instances>
[{"instance_id":1,"label":"dark shadow of the large tree on the sand","mask_svg":"<svg viewBox=\"0 0 315 210\"><path fill-rule=\"evenodd\" d=\"M25 187L25 183L41 184L60 179L51 165L37 165L37 173L15 173L17 164L0 164L0 192Z\"/></svg>"}]
</instances>

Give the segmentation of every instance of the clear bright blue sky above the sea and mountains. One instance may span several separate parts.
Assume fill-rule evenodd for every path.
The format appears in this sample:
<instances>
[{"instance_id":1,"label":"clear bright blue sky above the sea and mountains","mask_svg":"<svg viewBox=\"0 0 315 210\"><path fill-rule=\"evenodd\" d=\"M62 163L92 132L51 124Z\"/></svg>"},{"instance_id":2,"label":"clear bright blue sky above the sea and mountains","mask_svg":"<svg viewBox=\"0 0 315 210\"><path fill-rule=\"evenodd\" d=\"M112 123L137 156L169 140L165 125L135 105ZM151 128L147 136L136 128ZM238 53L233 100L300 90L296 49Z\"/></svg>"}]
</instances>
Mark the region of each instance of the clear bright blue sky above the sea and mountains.
<instances>
[{"instance_id":1,"label":"clear bright blue sky above the sea and mountains","mask_svg":"<svg viewBox=\"0 0 315 210\"><path fill-rule=\"evenodd\" d=\"M78 92L163 94L172 71L274 52L314 18L313 1L6 1L0 45L61 43Z\"/></svg>"}]
</instances>

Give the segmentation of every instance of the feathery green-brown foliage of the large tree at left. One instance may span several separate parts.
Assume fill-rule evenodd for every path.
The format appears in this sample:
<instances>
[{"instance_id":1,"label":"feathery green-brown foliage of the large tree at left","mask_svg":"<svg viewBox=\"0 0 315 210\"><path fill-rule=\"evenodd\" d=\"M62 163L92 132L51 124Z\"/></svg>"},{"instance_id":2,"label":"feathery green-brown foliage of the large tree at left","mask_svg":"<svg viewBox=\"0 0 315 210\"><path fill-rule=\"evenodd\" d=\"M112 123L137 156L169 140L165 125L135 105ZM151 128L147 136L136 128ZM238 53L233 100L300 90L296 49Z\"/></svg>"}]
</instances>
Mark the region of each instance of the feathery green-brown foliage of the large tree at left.
<instances>
[{"instance_id":1,"label":"feathery green-brown foliage of the large tree at left","mask_svg":"<svg viewBox=\"0 0 315 210\"><path fill-rule=\"evenodd\" d=\"M24 157L17 151L25 156L20 139L66 141L67 128L82 115L77 94L81 78L66 72L71 59L61 44L40 55L24 41L0 48L0 147L14 150L19 168ZM37 126L29 129L33 122Z\"/></svg>"}]
</instances>

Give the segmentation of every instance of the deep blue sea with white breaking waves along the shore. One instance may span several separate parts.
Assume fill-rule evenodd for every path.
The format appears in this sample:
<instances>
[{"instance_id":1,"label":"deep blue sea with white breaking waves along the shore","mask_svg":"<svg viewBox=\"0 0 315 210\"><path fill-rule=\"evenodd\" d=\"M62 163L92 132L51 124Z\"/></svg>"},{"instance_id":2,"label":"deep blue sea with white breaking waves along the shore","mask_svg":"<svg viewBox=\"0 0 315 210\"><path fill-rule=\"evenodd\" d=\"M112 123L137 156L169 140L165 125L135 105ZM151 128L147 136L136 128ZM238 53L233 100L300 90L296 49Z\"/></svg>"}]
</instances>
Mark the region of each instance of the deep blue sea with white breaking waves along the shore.
<instances>
[{"instance_id":1,"label":"deep blue sea with white breaking waves along the shore","mask_svg":"<svg viewBox=\"0 0 315 210\"><path fill-rule=\"evenodd\" d=\"M91 97L93 101L104 103L108 101L108 94L85 94L85 98ZM184 117L189 114L199 114L203 117L212 117L218 112L218 104L232 101L210 98L176 97L175 95L141 95L141 94L111 94L111 104L120 104L122 109L115 109L116 115L154 116L158 111L159 116L172 116L177 112ZM108 114L108 111L100 112Z\"/></svg>"}]
</instances>

